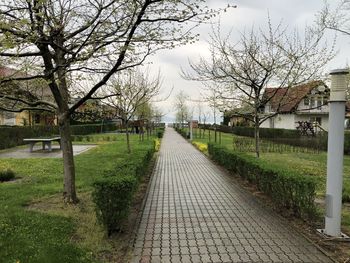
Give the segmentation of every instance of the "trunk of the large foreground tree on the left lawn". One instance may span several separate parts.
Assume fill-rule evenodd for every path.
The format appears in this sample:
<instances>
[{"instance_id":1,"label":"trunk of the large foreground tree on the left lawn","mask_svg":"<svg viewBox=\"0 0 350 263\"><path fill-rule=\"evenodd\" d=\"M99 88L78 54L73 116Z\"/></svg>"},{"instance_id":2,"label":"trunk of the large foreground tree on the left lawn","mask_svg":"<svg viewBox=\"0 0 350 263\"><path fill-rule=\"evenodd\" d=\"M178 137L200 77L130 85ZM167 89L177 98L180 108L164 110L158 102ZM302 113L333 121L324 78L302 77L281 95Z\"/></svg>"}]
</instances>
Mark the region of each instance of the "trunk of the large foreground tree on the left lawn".
<instances>
[{"instance_id":1,"label":"trunk of the large foreground tree on the left lawn","mask_svg":"<svg viewBox=\"0 0 350 263\"><path fill-rule=\"evenodd\" d=\"M61 148L63 153L64 167L63 199L65 203L76 204L79 200L75 191L75 166L71 130L68 117L64 117L59 121L59 130L61 136Z\"/></svg>"}]
</instances>

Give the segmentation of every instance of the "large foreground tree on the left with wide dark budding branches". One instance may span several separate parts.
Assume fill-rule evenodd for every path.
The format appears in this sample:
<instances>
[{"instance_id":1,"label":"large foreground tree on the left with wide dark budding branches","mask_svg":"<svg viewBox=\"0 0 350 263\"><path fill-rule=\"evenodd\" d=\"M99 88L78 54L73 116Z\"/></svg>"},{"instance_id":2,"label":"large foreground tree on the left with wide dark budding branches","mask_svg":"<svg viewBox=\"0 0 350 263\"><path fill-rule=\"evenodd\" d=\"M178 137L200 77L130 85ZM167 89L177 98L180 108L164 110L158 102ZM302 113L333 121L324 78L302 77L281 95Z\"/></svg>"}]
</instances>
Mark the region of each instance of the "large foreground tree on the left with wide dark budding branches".
<instances>
[{"instance_id":1,"label":"large foreground tree on the left with wide dark budding branches","mask_svg":"<svg viewBox=\"0 0 350 263\"><path fill-rule=\"evenodd\" d=\"M49 110L57 114L64 162L64 200L78 202L70 116L116 72L142 64L162 48L192 42L191 28L213 14L205 1L184 0L2 0L2 63L26 65L26 75L1 79L3 110ZM78 100L72 80L95 75ZM44 80L52 101L26 100L8 94L7 83ZM6 101L18 101L7 103ZM10 107L11 106L11 107Z\"/></svg>"}]
</instances>

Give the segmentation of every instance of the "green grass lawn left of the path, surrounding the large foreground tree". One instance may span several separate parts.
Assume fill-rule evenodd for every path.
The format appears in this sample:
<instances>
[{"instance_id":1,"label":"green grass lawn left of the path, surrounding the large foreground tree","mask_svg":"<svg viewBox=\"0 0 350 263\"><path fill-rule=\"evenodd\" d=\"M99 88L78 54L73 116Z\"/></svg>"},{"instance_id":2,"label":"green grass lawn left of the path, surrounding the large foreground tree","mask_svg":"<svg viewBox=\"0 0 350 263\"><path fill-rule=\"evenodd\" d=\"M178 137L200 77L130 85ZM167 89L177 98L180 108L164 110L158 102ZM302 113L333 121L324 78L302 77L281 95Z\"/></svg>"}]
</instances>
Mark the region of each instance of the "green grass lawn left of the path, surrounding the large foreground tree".
<instances>
[{"instance_id":1,"label":"green grass lawn left of the path, surrounding the large foreground tree","mask_svg":"<svg viewBox=\"0 0 350 263\"><path fill-rule=\"evenodd\" d=\"M125 136L109 142L92 137L80 143L93 141L99 146L75 156L81 199L76 206L62 202L62 159L0 159L0 170L10 168L20 177L0 183L1 262L100 262L96 255L101 258L112 249L96 223L90 192L104 170L130 157ZM132 154L153 147L153 138L143 142L138 136L131 138Z\"/></svg>"}]
</instances>

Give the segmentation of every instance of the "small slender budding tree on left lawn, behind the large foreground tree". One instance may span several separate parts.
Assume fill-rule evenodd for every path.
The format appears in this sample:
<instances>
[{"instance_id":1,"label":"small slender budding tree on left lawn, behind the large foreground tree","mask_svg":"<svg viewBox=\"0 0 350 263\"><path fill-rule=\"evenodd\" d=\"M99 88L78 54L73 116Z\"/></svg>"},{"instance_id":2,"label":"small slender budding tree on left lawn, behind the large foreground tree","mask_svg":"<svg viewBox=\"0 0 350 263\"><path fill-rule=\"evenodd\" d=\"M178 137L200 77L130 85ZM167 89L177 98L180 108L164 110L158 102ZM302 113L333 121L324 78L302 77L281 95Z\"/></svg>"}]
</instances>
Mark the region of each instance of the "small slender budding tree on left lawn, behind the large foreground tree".
<instances>
[{"instance_id":1,"label":"small slender budding tree on left lawn, behind the large foreground tree","mask_svg":"<svg viewBox=\"0 0 350 263\"><path fill-rule=\"evenodd\" d=\"M129 123L135 114L149 101L158 95L160 89L159 75L154 79L148 76L148 72L129 69L112 77L111 84L102 97L104 103L115 108L119 112L119 118L126 128L126 144L128 153L131 153Z\"/></svg>"}]
</instances>

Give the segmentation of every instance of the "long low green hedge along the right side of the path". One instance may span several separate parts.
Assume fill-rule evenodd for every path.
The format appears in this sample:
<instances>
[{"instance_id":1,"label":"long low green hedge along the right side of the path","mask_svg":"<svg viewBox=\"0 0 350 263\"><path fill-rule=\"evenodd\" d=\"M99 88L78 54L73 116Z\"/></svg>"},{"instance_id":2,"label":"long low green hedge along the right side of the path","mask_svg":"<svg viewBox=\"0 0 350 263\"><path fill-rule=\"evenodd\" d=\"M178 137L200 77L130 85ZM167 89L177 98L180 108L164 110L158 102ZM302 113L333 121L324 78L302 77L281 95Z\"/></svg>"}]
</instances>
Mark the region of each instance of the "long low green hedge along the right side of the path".
<instances>
[{"instance_id":1,"label":"long low green hedge along the right side of the path","mask_svg":"<svg viewBox=\"0 0 350 263\"><path fill-rule=\"evenodd\" d=\"M210 157L230 172L240 175L269 195L281 208L294 216L314 218L317 182L295 170L286 170L245 153L236 153L222 146L209 143Z\"/></svg>"}]
</instances>

